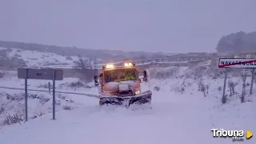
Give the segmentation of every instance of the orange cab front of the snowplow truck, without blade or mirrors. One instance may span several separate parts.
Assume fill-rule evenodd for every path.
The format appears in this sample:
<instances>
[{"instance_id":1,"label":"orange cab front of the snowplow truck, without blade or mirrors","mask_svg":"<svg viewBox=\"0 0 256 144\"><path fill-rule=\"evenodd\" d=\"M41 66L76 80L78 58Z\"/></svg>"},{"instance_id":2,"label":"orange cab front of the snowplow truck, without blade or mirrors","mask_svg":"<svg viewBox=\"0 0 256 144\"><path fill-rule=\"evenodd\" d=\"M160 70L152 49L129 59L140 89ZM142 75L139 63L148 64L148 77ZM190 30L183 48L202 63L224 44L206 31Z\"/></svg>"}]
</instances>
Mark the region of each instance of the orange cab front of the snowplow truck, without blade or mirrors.
<instances>
[{"instance_id":1,"label":"orange cab front of the snowplow truck, without blade or mirrors","mask_svg":"<svg viewBox=\"0 0 256 144\"><path fill-rule=\"evenodd\" d=\"M114 67L106 64L99 77L100 95L138 95L141 91L138 69L133 63Z\"/></svg>"}]
</instances>

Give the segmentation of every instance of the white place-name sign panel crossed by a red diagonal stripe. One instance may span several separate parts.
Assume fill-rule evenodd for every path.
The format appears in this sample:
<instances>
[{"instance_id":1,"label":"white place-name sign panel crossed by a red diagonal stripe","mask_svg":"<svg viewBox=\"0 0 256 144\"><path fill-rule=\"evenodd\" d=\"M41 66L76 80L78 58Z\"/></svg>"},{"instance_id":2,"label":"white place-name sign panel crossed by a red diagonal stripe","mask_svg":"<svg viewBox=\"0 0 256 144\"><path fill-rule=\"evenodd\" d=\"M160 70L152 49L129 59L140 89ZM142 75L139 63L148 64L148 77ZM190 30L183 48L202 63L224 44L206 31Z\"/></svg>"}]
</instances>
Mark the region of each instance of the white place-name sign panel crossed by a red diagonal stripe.
<instances>
[{"instance_id":1,"label":"white place-name sign panel crossed by a red diagonal stripe","mask_svg":"<svg viewBox=\"0 0 256 144\"><path fill-rule=\"evenodd\" d=\"M218 68L256 68L256 59L220 58Z\"/></svg>"}]
</instances>

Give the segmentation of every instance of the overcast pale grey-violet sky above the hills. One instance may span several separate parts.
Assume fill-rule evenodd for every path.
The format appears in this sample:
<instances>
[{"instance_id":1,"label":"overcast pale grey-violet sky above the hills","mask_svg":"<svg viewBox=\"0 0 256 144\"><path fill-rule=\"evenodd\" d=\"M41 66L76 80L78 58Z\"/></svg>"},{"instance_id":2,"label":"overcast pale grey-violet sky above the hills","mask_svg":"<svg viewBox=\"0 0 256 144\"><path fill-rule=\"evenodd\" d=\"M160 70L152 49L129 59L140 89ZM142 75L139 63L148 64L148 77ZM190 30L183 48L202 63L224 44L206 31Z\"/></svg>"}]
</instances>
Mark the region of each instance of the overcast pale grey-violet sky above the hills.
<instances>
[{"instance_id":1,"label":"overcast pale grey-violet sky above the hills","mask_svg":"<svg viewBox=\"0 0 256 144\"><path fill-rule=\"evenodd\" d=\"M213 52L256 30L256 0L0 0L0 40L150 52Z\"/></svg>"}]
</instances>

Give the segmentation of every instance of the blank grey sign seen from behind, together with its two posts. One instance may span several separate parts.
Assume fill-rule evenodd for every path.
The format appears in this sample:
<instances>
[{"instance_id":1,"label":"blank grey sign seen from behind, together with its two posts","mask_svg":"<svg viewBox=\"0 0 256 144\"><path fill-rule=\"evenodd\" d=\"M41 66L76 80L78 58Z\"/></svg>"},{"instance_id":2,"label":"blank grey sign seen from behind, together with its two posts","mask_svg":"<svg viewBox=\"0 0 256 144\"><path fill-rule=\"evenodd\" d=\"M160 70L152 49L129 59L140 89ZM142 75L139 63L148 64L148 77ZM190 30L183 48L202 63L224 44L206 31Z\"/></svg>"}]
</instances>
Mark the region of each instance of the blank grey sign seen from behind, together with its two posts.
<instances>
[{"instance_id":1,"label":"blank grey sign seen from behind, together with its two posts","mask_svg":"<svg viewBox=\"0 0 256 144\"><path fill-rule=\"evenodd\" d=\"M63 70L18 68L18 78L25 79L25 120L28 121L27 80L53 80L53 119L55 119L55 80L63 80Z\"/></svg>"}]
</instances>

